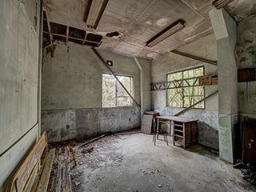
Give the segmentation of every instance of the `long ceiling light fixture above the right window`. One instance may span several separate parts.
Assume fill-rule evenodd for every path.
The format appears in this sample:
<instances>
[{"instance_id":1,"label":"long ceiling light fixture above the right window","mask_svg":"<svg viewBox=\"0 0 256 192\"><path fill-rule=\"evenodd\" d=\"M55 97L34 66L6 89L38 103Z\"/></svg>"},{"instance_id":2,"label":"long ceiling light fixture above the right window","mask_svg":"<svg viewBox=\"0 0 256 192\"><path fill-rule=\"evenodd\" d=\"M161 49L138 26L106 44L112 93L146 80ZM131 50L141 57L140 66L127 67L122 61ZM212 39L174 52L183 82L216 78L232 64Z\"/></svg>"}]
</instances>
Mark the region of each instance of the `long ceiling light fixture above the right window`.
<instances>
[{"instance_id":1,"label":"long ceiling light fixture above the right window","mask_svg":"<svg viewBox=\"0 0 256 192\"><path fill-rule=\"evenodd\" d=\"M159 42L169 38L170 35L173 35L179 30L182 30L185 27L184 24L185 22L182 19L179 19L177 22L174 22L170 26L166 27L166 29L162 30L159 34L155 35L148 42L146 42L146 46L152 47L157 45Z\"/></svg>"}]
</instances>

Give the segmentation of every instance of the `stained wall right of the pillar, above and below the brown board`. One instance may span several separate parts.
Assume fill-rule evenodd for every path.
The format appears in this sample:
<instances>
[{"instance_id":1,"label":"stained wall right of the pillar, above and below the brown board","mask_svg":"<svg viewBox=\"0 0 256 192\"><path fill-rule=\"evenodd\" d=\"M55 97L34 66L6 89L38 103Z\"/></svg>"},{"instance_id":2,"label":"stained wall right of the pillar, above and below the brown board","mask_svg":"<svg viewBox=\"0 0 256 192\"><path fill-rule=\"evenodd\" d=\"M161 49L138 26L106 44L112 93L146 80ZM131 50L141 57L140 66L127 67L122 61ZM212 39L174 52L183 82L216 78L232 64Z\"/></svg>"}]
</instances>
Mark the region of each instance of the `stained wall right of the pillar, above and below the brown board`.
<instances>
[{"instance_id":1,"label":"stained wall right of the pillar, above and below the brown board","mask_svg":"<svg viewBox=\"0 0 256 192\"><path fill-rule=\"evenodd\" d=\"M238 23L238 69L256 68L256 15ZM239 82L240 112L256 114L256 82Z\"/></svg>"}]
</instances>

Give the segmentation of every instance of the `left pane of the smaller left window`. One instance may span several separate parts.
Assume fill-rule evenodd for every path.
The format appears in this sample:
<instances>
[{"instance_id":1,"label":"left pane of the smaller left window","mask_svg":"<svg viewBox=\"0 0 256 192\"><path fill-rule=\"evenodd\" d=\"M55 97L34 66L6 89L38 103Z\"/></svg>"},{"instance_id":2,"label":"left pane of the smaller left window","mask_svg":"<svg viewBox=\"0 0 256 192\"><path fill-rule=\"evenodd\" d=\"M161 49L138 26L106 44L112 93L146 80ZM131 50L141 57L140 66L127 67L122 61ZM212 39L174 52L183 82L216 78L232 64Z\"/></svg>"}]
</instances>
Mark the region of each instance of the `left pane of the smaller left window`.
<instances>
[{"instance_id":1,"label":"left pane of the smaller left window","mask_svg":"<svg viewBox=\"0 0 256 192\"><path fill-rule=\"evenodd\" d=\"M116 106L115 81L113 75L102 74L102 107Z\"/></svg>"}]
</instances>

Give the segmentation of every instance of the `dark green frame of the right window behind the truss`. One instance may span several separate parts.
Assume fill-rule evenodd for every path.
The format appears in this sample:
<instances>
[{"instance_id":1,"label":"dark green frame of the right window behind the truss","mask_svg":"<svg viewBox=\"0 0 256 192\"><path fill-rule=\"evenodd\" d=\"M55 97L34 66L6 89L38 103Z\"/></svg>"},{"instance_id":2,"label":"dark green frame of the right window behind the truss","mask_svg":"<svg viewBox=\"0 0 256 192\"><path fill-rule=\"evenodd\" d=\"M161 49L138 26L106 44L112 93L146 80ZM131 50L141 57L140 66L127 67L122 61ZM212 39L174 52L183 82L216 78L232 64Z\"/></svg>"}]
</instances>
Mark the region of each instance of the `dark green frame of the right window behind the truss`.
<instances>
[{"instance_id":1,"label":"dark green frame of the right window behind the truss","mask_svg":"<svg viewBox=\"0 0 256 192\"><path fill-rule=\"evenodd\" d=\"M187 71L187 70L198 69L198 68L202 68L202 72L203 72L202 75L205 75L206 70L205 70L205 66L204 66L204 65L202 65L202 66L194 66L194 67L185 68L185 69L182 69L182 70L174 70L174 71L172 71L172 72L170 72L170 73L167 73L167 74L166 74L166 82L168 82L168 75L169 75L169 74L176 74L176 73L182 72L182 79L184 79L184 78L183 78L183 72L185 72L185 71ZM198 77L199 77L199 76L198 76ZM182 80L182 79L176 79L176 80ZM191 87L193 87L193 86L191 86ZM184 88L181 88L181 89L184 89ZM202 89L203 89L203 97L205 98L205 97L206 97L206 88L205 88L205 86L202 86ZM178 107L178 106L169 106L169 105L168 105L168 103L169 103L168 90L170 90L170 89L166 89L166 107L175 108L175 109L187 108L187 107L184 107L183 104L182 104L182 107ZM176 90L176 89L174 89L174 90ZM182 103L184 103L183 98L182 98ZM205 110L205 109L206 109L206 102L205 102L205 101L203 102L203 108L194 108L194 107L193 107L192 109L194 109L194 110Z\"/></svg>"}]
</instances>

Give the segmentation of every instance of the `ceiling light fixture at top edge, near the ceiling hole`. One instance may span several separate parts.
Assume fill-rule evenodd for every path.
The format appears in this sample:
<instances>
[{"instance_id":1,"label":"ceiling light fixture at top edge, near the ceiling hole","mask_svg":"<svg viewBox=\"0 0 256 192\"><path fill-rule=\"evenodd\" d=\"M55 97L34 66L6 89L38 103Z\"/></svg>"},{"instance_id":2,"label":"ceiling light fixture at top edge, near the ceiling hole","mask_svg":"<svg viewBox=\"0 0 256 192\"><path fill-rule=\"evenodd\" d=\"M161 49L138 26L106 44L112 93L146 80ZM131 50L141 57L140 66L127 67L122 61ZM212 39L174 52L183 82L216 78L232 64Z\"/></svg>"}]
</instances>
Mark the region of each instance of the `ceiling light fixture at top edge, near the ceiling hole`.
<instances>
[{"instance_id":1,"label":"ceiling light fixture at top edge, near the ceiling hole","mask_svg":"<svg viewBox=\"0 0 256 192\"><path fill-rule=\"evenodd\" d=\"M92 0L90 4L89 14L86 18L86 26L96 29L99 20L102 18L102 14L106 8L106 4L109 0Z\"/></svg>"}]
</instances>

